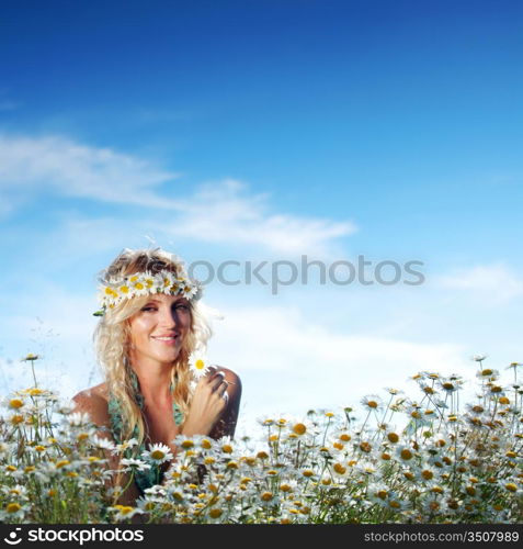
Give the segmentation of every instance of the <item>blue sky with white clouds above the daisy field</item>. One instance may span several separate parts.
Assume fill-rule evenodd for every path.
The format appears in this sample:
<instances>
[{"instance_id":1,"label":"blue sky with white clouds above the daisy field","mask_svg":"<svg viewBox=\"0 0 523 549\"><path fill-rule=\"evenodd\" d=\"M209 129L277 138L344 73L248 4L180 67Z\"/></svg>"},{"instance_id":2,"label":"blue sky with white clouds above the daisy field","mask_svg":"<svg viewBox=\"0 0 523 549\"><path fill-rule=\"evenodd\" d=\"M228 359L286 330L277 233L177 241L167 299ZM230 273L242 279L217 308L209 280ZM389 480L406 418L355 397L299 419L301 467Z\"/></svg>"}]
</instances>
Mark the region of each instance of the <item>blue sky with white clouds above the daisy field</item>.
<instances>
[{"instance_id":1,"label":"blue sky with white clouds above the daisy field","mask_svg":"<svg viewBox=\"0 0 523 549\"><path fill-rule=\"evenodd\" d=\"M49 382L84 385L94 274L146 235L187 262L424 262L420 287L209 284L211 355L243 378L246 417L471 371L475 352L520 360L522 15L507 0L2 7L0 384L38 347Z\"/></svg>"}]
</instances>

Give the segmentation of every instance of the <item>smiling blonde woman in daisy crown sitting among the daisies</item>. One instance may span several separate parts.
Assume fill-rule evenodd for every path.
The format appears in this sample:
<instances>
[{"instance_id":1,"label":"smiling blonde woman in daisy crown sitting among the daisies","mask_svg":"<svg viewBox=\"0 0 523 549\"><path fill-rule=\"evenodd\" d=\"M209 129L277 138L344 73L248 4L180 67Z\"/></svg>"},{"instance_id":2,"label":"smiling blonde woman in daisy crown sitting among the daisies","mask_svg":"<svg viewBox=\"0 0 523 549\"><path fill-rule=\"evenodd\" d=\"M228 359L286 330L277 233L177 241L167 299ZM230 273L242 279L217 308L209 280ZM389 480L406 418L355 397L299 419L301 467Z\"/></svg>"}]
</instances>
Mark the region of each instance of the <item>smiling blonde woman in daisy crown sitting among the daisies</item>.
<instances>
[{"instance_id":1,"label":"smiling blonde woman in daisy crown sitting among the daisies","mask_svg":"<svg viewBox=\"0 0 523 549\"><path fill-rule=\"evenodd\" d=\"M202 288L183 262L157 249L125 249L100 277L101 316L94 334L105 381L73 397L100 435L116 444L135 438L126 457L177 435L219 438L235 433L241 397L238 376L197 359L211 337L198 300ZM111 469L120 458L110 457ZM136 472L121 497L133 503L161 481L161 471Z\"/></svg>"}]
</instances>

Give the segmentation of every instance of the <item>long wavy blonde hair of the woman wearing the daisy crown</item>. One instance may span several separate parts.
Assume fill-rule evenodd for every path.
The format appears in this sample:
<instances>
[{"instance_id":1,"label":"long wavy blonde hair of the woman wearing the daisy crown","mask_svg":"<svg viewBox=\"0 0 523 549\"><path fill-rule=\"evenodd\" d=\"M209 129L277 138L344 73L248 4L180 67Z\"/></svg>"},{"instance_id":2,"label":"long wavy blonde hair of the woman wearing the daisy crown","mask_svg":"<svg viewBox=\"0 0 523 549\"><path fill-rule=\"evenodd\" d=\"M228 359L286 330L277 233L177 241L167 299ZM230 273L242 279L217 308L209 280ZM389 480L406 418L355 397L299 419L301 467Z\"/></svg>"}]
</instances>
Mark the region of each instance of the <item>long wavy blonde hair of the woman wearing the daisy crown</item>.
<instances>
[{"instance_id":1,"label":"long wavy blonde hair of the woman wearing the daisy crown","mask_svg":"<svg viewBox=\"0 0 523 549\"><path fill-rule=\"evenodd\" d=\"M146 271L156 274L161 270L168 270L175 277L186 277L183 261L173 254L160 248L136 250L126 248L100 273L99 279L102 284L106 284L112 278ZM94 345L100 367L104 371L109 392L121 407L122 440L135 436L137 427L139 444L147 436L147 424L133 388L134 372L129 362L130 333L127 321L140 311L148 299L148 295L134 296L107 309L94 332ZM205 351L207 340L213 335L209 321L200 301L190 300L189 304L190 329L171 370L171 384L174 386L173 400L184 416L191 402L189 356L195 350Z\"/></svg>"}]
</instances>

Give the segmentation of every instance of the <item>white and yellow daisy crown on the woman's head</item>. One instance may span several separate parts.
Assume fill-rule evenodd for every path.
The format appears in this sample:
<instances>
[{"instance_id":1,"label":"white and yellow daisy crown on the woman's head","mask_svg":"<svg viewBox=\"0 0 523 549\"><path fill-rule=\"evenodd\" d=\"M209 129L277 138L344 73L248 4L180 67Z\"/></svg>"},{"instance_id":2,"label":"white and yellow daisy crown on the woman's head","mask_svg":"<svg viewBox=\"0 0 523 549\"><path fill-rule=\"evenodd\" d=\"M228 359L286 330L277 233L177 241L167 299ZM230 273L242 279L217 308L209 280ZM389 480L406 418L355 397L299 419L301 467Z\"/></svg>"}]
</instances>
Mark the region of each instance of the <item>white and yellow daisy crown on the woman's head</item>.
<instances>
[{"instance_id":1,"label":"white and yellow daisy crown on the woman's head","mask_svg":"<svg viewBox=\"0 0 523 549\"><path fill-rule=\"evenodd\" d=\"M93 314L94 316L103 316L107 309L113 309L118 303L136 295L163 293L183 295L187 300L198 300L202 292L201 282L193 281L184 274L177 277L168 270L161 270L155 274L146 271L113 277L99 285L98 298L101 309Z\"/></svg>"}]
</instances>

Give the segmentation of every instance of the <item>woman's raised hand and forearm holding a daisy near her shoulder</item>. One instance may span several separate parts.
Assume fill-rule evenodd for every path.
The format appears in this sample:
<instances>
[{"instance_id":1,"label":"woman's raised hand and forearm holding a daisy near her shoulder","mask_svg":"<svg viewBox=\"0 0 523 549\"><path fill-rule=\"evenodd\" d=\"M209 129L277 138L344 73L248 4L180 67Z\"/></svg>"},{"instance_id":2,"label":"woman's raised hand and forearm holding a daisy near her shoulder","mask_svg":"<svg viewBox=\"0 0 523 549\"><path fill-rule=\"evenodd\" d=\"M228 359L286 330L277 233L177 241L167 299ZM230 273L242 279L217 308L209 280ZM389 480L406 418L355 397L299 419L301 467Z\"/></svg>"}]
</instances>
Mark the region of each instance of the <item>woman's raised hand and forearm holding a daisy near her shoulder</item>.
<instances>
[{"instance_id":1,"label":"woman's raised hand and forearm holding a daisy near her shoulder","mask_svg":"<svg viewBox=\"0 0 523 549\"><path fill-rule=\"evenodd\" d=\"M196 385L182 435L208 435L227 406L229 383L224 372L211 368Z\"/></svg>"}]
</instances>

